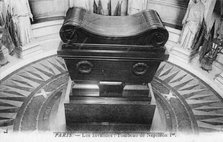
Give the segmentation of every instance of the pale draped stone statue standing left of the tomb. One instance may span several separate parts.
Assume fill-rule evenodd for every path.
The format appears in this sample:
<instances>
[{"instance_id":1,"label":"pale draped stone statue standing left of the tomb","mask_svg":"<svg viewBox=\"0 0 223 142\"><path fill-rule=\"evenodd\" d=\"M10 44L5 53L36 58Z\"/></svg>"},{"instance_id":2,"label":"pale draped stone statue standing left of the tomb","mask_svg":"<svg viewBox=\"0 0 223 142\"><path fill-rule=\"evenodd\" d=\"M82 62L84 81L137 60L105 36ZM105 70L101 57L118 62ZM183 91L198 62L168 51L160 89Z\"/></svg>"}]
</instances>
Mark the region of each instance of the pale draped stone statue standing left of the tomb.
<instances>
[{"instance_id":1,"label":"pale draped stone statue standing left of the tomb","mask_svg":"<svg viewBox=\"0 0 223 142\"><path fill-rule=\"evenodd\" d=\"M28 0L7 0L8 11L11 14L15 32L18 36L17 46L24 46L32 38L30 19L33 18Z\"/></svg>"}]
</instances>

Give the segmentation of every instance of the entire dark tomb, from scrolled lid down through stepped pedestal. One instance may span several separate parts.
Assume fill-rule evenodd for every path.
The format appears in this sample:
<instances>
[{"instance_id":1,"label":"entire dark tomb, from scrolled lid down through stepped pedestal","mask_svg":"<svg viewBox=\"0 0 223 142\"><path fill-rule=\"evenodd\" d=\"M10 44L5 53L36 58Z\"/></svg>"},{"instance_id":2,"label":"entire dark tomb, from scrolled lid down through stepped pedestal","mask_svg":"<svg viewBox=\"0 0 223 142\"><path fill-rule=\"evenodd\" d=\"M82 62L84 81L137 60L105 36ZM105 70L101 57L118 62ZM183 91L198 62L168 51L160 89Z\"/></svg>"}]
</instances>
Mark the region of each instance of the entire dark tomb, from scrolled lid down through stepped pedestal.
<instances>
[{"instance_id":1,"label":"entire dark tomb, from scrolled lid down through stepped pedestal","mask_svg":"<svg viewBox=\"0 0 223 142\"><path fill-rule=\"evenodd\" d=\"M102 16L71 8L60 36L58 56L75 84L65 104L69 129L149 130L155 105L147 84L168 58L156 11Z\"/></svg>"}]
</instances>

